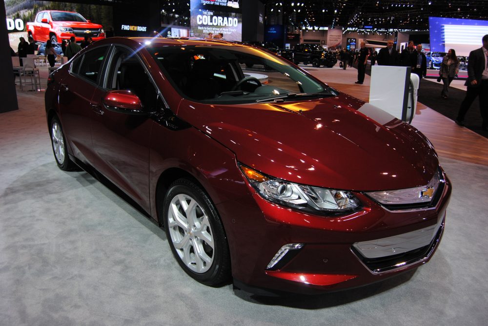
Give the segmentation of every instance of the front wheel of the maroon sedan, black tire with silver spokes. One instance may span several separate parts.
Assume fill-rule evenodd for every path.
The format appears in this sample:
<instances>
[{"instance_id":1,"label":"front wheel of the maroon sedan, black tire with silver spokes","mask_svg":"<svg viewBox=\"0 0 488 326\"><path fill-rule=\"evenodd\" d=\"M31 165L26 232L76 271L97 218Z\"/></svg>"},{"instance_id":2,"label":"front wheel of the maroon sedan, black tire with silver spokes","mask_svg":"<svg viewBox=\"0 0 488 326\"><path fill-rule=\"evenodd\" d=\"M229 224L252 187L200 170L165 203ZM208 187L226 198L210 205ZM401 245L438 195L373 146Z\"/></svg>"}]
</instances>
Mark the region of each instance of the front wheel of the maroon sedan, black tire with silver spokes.
<instances>
[{"instance_id":1,"label":"front wheel of the maroon sedan, black tire with silver spokes","mask_svg":"<svg viewBox=\"0 0 488 326\"><path fill-rule=\"evenodd\" d=\"M192 200L196 202L195 213L190 214L192 217L188 217L183 210L181 205L182 198L186 205L191 204ZM178 206L178 203L180 203L180 206ZM184 218L183 222L178 223L174 219L174 213L170 213L170 209L172 211L173 209L177 209L178 216ZM191 220L193 218L194 220L192 222ZM224 226L222 225L222 221L210 197L200 186L188 179L178 179L173 182L164 197L163 221L169 247L180 267L183 268L188 275L198 282L208 286L219 286L229 279L231 269L230 254ZM186 223L185 225L188 231L183 229L181 226L182 223ZM194 223L193 227L190 226L190 223ZM208 226L206 224L208 224ZM202 230L208 234L207 238L211 238L214 247L213 249L208 245L210 242L202 240ZM199 236L201 237L200 239ZM185 241L185 239L187 240ZM197 242L193 242L195 239ZM202 242L198 243L198 241ZM182 248L177 250L175 248L175 242L177 244L182 244ZM187 246L185 246L184 243L187 243ZM197 262L197 260L199 260L197 259L199 255L195 250L195 245L197 245L200 250L203 249L204 254L212 259L209 266L203 266L205 270L202 272L197 272L195 270L199 268ZM189 258L191 258L191 254L193 253L194 261L184 257L185 249L183 247L187 247L187 255ZM183 259L189 260L187 263L191 268L187 266ZM202 259L200 260L201 263L204 263Z\"/></svg>"}]
</instances>

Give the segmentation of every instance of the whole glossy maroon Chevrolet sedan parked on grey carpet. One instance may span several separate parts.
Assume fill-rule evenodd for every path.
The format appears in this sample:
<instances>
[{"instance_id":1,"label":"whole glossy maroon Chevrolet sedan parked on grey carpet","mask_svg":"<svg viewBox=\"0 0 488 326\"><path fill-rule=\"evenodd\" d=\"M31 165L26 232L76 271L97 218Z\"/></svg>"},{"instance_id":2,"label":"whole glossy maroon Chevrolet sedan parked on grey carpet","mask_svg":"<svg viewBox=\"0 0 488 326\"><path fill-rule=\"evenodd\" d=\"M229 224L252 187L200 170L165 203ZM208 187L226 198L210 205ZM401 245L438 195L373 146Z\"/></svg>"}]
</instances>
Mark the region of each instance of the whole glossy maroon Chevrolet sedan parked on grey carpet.
<instances>
[{"instance_id":1,"label":"whole glossy maroon Chevrolet sedan parked on grey carpet","mask_svg":"<svg viewBox=\"0 0 488 326\"><path fill-rule=\"evenodd\" d=\"M321 293L439 246L451 185L427 138L264 49L104 39L49 77L45 106L58 166L130 196L203 284Z\"/></svg>"}]
</instances>

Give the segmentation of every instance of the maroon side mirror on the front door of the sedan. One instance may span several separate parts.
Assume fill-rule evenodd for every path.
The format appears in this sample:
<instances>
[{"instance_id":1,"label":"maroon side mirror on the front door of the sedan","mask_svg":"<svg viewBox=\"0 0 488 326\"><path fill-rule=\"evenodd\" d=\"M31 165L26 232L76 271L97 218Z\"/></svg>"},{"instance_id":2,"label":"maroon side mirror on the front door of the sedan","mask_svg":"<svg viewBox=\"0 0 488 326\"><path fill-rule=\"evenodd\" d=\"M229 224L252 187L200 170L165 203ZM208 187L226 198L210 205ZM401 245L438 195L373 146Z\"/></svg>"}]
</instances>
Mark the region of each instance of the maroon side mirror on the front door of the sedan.
<instances>
[{"instance_id":1,"label":"maroon side mirror on the front door of the sedan","mask_svg":"<svg viewBox=\"0 0 488 326\"><path fill-rule=\"evenodd\" d=\"M103 96L103 106L113 112L126 115L147 115L142 110L141 99L131 91L109 91Z\"/></svg>"}]
</instances>

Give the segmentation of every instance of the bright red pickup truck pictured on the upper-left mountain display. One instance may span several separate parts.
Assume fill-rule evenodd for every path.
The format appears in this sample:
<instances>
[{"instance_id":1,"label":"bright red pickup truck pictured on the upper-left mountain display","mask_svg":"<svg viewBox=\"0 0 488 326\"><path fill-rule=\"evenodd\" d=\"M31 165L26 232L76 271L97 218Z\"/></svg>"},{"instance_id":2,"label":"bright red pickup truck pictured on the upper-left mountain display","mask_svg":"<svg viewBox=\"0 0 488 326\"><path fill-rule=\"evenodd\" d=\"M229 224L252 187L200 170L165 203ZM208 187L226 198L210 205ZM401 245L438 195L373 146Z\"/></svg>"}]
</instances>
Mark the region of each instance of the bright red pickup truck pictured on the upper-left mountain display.
<instances>
[{"instance_id":1,"label":"bright red pickup truck pictured on the upper-left mountain display","mask_svg":"<svg viewBox=\"0 0 488 326\"><path fill-rule=\"evenodd\" d=\"M28 22L27 33L38 42L50 39L61 42L72 36L81 42L86 36L93 41L105 38L103 26L86 20L79 13L69 11L45 10L37 14L34 22Z\"/></svg>"}]
</instances>

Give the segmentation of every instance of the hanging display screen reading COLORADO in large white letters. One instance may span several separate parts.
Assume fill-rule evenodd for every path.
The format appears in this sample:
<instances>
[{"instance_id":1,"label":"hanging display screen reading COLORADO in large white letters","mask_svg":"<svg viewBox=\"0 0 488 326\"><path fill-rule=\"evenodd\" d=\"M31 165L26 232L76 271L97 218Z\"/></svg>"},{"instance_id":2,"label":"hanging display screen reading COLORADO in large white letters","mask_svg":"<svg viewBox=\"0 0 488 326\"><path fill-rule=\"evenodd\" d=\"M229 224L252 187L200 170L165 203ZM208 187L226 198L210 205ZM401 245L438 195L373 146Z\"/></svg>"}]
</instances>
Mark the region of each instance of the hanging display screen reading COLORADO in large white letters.
<instances>
[{"instance_id":1,"label":"hanging display screen reading COLORADO in large white letters","mask_svg":"<svg viewBox=\"0 0 488 326\"><path fill-rule=\"evenodd\" d=\"M239 1L191 0L191 36L242 41L242 9Z\"/></svg>"}]
</instances>

